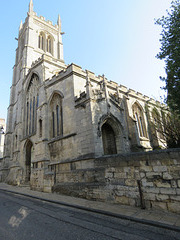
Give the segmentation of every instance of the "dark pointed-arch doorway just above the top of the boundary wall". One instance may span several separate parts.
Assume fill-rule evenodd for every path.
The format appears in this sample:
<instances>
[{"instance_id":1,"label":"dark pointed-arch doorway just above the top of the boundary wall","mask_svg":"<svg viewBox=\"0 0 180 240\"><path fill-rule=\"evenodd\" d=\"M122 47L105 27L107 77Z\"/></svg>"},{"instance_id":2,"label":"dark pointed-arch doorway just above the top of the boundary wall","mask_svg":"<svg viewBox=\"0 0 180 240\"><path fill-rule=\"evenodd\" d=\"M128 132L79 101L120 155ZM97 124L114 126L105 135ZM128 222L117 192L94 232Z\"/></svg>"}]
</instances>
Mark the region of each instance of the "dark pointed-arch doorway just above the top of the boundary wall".
<instances>
[{"instance_id":1,"label":"dark pointed-arch doorway just above the top of the boundary wall","mask_svg":"<svg viewBox=\"0 0 180 240\"><path fill-rule=\"evenodd\" d=\"M117 154L116 137L113 128L107 122L105 122L102 125L101 130L104 154Z\"/></svg>"}]
</instances>

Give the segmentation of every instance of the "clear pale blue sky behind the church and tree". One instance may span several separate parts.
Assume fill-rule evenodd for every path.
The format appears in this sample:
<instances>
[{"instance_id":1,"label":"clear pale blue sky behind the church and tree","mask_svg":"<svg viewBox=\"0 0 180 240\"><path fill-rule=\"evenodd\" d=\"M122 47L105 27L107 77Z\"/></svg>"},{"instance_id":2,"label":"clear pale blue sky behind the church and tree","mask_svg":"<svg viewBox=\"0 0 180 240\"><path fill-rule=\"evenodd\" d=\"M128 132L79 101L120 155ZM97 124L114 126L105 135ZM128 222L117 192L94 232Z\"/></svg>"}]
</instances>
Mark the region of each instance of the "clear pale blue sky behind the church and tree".
<instances>
[{"instance_id":1,"label":"clear pale blue sky behind the church and tree","mask_svg":"<svg viewBox=\"0 0 180 240\"><path fill-rule=\"evenodd\" d=\"M0 0L0 118L6 118L18 29L30 0ZM154 19L166 14L171 0L33 0L38 16L61 16L66 64L105 74L149 97L160 99L164 62L156 59L161 28Z\"/></svg>"}]
</instances>

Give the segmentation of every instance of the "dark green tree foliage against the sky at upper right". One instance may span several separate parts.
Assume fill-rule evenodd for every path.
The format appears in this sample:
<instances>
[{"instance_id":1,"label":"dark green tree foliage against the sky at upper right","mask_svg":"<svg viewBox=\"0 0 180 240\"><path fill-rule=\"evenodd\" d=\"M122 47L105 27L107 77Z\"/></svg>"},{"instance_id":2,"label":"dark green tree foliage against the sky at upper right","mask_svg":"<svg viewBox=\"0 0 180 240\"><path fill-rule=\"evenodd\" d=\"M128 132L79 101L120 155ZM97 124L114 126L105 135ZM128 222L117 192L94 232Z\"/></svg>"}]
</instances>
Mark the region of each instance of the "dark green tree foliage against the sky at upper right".
<instances>
[{"instance_id":1,"label":"dark green tree foliage against the sky at upper right","mask_svg":"<svg viewBox=\"0 0 180 240\"><path fill-rule=\"evenodd\" d=\"M167 16L156 21L161 25L161 48L157 58L165 60L167 104L180 118L180 0L171 3Z\"/></svg>"}]
</instances>

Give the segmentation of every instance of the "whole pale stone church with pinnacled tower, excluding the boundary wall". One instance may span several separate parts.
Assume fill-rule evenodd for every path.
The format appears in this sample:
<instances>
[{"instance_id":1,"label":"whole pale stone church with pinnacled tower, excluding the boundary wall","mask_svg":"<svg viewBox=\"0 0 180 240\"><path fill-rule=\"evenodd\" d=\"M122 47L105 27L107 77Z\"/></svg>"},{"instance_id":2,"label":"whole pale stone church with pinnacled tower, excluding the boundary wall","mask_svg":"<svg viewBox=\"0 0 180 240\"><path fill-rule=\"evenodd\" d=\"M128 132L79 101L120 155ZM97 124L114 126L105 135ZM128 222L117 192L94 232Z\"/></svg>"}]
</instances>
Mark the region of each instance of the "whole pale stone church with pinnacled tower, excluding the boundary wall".
<instances>
[{"instance_id":1,"label":"whole pale stone church with pinnacled tower, excluding the boundary wall","mask_svg":"<svg viewBox=\"0 0 180 240\"><path fill-rule=\"evenodd\" d=\"M31 0L19 27L2 181L43 190L61 163L163 145L152 125L162 118L160 103L66 65L62 35L60 16L53 25L37 16Z\"/></svg>"}]
</instances>

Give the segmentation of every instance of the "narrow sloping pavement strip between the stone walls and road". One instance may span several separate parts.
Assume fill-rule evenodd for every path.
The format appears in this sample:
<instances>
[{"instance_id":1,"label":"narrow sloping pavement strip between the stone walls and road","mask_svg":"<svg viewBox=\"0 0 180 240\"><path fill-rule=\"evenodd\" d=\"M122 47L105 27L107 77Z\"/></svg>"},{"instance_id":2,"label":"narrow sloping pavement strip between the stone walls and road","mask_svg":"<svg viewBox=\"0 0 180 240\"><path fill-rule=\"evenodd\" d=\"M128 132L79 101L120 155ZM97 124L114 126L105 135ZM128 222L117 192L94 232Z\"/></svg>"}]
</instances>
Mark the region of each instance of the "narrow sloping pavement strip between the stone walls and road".
<instances>
[{"instance_id":1,"label":"narrow sloping pavement strip between the stone walls and road","mask_svg":"<svg viewBox=\"0 0 180 240\"><path fill-rule=\"evenodd\" d=\"M29 187L12 186L6 183L0 183L0 191L180 232L180 215L166 211L141 209L133 206L91 201L56 193L38 192L31 190Z\"/></svg>"}]
</instances>

